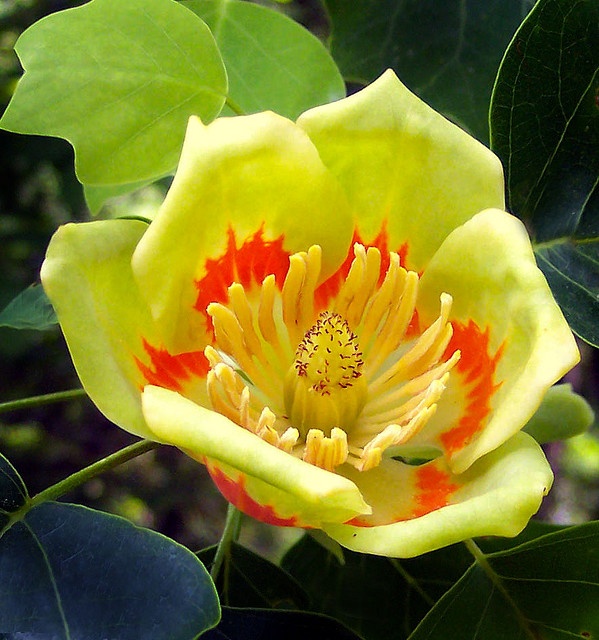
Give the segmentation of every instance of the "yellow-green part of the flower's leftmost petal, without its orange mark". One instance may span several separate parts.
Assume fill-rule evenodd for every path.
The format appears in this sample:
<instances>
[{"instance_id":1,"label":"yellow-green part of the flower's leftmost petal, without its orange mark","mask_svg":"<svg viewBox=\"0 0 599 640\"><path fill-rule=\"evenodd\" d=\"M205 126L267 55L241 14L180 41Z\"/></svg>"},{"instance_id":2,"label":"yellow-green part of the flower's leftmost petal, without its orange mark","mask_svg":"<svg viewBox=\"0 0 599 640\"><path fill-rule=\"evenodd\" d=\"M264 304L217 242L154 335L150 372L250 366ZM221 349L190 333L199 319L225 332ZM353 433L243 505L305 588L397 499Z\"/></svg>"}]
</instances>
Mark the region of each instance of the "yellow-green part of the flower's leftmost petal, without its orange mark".
<instances>
[{"instance_id":1,"label":"yellow-green part of the flower's leftmost petal, without its orange mark","mask_svg":"<svg viewBox=\"0 0 599 640\"><path fill-rule=\"evenodd\" d=\"M151 437L133 355L152 320L131 272L131 255L147 225L135 220L68 224L53 236L42 284L91 399L123 429Z\"/></svg>"}]
</instances>

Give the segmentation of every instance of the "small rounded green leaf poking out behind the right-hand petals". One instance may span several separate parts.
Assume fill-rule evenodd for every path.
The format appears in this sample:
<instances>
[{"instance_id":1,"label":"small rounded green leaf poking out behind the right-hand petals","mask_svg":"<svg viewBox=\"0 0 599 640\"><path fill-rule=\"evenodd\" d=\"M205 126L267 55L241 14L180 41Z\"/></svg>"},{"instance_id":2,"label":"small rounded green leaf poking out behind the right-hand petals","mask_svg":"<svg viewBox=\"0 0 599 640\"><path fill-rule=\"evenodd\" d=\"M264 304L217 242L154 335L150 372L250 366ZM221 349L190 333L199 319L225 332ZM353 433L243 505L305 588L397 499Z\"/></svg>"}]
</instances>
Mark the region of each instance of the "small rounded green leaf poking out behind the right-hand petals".
<instances>
[{"instance_id":1,"label":"small rounded green leaf poking out behind the right-hand petals","mask_svg":"<svg viewBox=\"0 0 599 640\"><path fill-rule=\"evenodd\" d=\"M594 419L591 406L572 391L572 385L558 384L545 394L524 431L543 444L580 435L589 429Z\"/></svg>"}]
</instances>

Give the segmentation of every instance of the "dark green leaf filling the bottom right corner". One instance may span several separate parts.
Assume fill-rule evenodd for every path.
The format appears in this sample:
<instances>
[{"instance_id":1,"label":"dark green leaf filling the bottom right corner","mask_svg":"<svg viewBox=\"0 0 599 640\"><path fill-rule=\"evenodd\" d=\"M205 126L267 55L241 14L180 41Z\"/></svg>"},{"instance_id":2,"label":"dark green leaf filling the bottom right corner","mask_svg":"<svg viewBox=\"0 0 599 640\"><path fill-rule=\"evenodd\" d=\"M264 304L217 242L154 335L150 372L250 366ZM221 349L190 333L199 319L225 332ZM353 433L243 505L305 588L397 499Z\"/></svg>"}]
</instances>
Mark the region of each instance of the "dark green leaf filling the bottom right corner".
<instances>
[{"instance_id":1,"label":"dark green leaf filling the bottom right corner","mask_svg":"<svg viewBox=\"0 0 599 640\"><path fill-rule=\"evenodd\" d=\"M567 640L599 634L599 523L483 556L410 640Z\"/></svg>"}]
</instances>

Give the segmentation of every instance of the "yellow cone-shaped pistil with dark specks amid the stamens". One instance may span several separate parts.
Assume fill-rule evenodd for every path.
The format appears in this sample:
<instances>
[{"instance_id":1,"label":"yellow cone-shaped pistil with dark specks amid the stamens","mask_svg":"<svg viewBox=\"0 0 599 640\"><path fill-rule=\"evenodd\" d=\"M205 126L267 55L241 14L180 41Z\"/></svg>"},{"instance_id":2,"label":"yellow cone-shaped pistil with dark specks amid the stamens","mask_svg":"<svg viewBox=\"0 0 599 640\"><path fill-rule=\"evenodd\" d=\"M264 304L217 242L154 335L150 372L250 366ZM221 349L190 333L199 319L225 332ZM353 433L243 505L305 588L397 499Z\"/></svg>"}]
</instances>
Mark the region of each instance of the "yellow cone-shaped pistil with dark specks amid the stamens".
<instances>
[{"instance_id":1,"label":"yellow cone-shaped pistil with dark specks amid the stamens","mask_svg":"<svg viewBox=\"0 0 599 640\"><path fill-rule=\"evenodd\" d=\"M285 379L285 409L304 438L311 428L348 432L364 407L358 337L338 313L325 311L306 331Z\"/></svg>"}]
</instances>

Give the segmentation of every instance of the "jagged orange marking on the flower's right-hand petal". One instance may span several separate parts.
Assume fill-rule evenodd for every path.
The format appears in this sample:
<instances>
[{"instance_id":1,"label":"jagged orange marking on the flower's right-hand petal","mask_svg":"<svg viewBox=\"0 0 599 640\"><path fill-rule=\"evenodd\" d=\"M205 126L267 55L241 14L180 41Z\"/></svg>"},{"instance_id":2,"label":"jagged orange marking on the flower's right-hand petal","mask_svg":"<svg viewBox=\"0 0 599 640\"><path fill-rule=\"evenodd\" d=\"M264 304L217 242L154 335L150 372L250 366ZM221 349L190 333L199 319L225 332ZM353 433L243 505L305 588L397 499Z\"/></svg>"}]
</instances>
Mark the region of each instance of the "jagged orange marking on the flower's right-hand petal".
<instances>
[{"instance_id":1,"label":"jagged orange marking on the flower's right-hand petal","mask_svg":"<svg viewBox=\"0 0 599 640\"><path fill-rule=\"evenodd\" d=\"M449 455L463 449L486 424L491 412L491 398L501 383L495 383L495 370L503 355L502 344L491 356L489 353L489 328L481 331L470 320L468 324L452 322L453 336L445 356L460 349L462 357L456 371L463 376L465 385L471 385L466 395L466 409L458 424L441 434L441 442Z\"/></svg>"}]
</instances>

